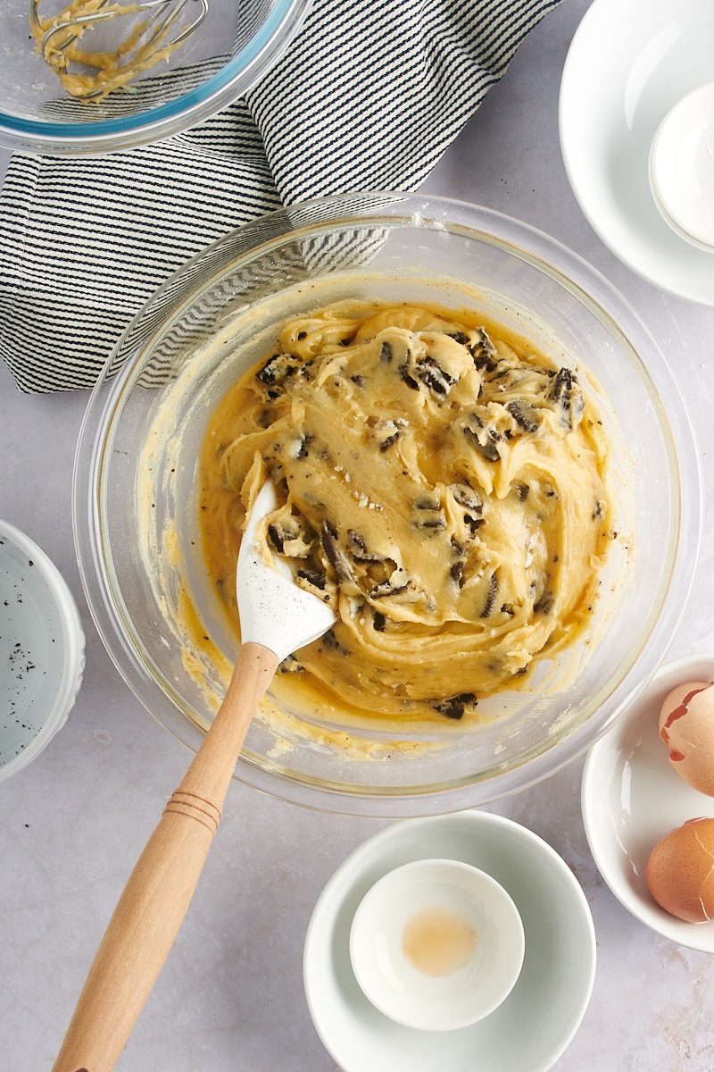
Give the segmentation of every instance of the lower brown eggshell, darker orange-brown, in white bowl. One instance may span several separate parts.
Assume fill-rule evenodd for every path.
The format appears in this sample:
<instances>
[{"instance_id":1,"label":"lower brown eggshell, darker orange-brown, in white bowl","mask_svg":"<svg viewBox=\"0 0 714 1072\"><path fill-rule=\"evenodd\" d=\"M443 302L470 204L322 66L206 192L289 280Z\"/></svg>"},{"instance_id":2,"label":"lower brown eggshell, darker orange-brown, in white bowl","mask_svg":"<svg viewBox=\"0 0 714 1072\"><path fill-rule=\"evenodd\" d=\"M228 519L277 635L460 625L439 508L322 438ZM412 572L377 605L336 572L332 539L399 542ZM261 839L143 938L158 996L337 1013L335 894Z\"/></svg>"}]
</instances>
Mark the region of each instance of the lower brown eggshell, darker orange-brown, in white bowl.
<instances>
[{"instance_id":1,"label":"lower brown eggshell, darker orange-brown, in white bowl","mask_svg":"<svg viewBox=\"0 0 714 1072\"><path fill-rule=\"evenodd\" d=\"M689 819L663 837L650 854L647 883L670 915L714 919L714 819Z\"/></svg>"}]
</instances>

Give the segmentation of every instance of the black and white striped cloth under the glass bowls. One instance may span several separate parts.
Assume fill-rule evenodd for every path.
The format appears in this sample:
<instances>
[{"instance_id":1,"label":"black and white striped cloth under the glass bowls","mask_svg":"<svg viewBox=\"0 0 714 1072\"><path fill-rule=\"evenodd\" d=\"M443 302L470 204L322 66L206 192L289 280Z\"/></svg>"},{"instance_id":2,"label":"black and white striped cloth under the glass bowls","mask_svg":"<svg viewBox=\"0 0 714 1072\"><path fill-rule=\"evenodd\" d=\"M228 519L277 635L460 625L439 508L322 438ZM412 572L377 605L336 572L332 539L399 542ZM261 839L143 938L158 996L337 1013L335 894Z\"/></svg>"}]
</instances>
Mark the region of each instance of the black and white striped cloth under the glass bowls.
<instances>
[{"instance_id":1,"label":"black and white striped cloth under the glass bowls","mask_svg":"<svg viewBox=\"0 0 714 1072\"><path fill-rule=\"evenodd\" d=\"M413 191L561 0L315 0L265 78L184 134L16 153L0 194L0 356L25 391L91 386L151 293L298 200Z\"/></svg>"}]
</instances>

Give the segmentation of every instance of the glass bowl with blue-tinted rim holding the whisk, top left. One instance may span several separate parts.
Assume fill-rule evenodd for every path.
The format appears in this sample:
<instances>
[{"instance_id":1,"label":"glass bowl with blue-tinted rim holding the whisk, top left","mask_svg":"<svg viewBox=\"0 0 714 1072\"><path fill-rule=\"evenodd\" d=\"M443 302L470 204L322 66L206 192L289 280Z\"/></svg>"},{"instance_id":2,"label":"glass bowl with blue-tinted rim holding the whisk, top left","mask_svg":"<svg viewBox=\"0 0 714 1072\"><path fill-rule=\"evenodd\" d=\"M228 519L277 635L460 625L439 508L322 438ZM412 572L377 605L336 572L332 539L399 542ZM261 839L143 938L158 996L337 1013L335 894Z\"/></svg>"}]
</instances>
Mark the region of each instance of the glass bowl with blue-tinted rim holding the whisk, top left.
<instances>
[{"instance_id":1,"label":"glass bowl with blue-tinted rim holding the whisk, top left","mask_svg":"<svg viewBox=\"0 0 714 1072\"><path fill-rule=\"evenodd\" d=\"M170 12L177 0L167 0ZM200 0L203 2L203 0ZM310 0L206 0L200 26L169 56L98 103L71 96L37 54L29 32L30 0L0 4L2 80L0 145L35 153L71 155L111 152L157 142L187 130L231 104L262 78L302 26ZM41 0L45 19L67 8ZM188 0L171 40L200 12ZM113 50L134 19L122 15L87 32L82 47ZM95 34L95 35L94 35ZM85 71L75 64L73 72Z\"/></svg>"}]
</instances>

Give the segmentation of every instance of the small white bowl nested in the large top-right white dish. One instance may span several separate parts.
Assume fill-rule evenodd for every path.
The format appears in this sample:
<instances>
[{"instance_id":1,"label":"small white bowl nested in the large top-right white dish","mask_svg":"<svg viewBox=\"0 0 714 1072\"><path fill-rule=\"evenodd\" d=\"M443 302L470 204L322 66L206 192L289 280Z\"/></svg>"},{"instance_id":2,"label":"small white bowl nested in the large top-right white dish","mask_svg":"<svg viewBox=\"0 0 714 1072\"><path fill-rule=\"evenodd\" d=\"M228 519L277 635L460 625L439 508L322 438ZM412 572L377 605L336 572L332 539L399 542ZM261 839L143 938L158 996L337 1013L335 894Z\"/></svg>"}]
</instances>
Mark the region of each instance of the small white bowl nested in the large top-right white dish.
<instances>
[{"instance_id":1,"label":"small white bowl nested in the large top-right white dish","mask_svg":"<svg viewBox=\"0 0 714 1072\"><path fill-rule=\"evenodd\" d=\"M714 253L714 83L687 93L663 119L650 150L650 185L672 230Z\"/></svg>"}]
</instances>

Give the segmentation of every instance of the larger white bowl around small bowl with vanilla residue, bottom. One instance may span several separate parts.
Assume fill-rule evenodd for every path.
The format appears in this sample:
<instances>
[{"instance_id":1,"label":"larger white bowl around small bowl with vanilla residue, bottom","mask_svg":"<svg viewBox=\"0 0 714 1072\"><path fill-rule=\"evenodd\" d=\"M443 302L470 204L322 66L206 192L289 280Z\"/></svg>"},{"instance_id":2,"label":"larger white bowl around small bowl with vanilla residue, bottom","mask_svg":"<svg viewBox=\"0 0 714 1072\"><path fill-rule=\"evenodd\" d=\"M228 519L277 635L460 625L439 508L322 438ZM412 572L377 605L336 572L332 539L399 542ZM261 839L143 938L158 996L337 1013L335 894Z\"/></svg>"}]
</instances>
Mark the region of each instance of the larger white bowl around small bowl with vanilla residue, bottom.
<instances>
[{"instance_id":1,"label":"larger white bowl around small bowl with vanilla residue, bottom","mask_svg":"<svg viewBox=\"0 0 714 1072\"><path fill-rule=\"evenodd\" d=\"M455 1031L401 1027L369 1002L350 966L352 918L367 890L394 867L439 855L491 875L513 897L526 936L518 982L485 1019ZM595 934L586 896L544 840L510 819L461 812L407 819L365 842L335 872L305 940L313 1022L343 1072L546 1072L588 1007Z\"/></svg>"}]
</instances>

